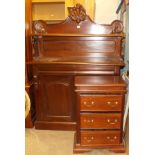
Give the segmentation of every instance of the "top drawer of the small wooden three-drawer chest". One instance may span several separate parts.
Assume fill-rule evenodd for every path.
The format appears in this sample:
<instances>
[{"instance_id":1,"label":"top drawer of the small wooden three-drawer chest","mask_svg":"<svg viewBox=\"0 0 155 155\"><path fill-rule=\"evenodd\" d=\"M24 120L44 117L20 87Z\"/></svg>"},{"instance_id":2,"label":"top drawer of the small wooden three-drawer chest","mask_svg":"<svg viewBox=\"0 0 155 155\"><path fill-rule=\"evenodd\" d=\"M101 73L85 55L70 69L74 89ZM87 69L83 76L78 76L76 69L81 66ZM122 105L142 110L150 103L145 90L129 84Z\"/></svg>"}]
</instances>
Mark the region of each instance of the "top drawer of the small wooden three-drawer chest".
<instances>
[{"instance_id":1,"label":"top drawer of the small wooden three-drawer chest","mask_svg":"<svg viewBox=\"0 0 155 155\"><path fill-rule=\"evenodd\" d=\"M81 95L81 111L121 111L122 95Z\"/></svg>"}]
</instances>

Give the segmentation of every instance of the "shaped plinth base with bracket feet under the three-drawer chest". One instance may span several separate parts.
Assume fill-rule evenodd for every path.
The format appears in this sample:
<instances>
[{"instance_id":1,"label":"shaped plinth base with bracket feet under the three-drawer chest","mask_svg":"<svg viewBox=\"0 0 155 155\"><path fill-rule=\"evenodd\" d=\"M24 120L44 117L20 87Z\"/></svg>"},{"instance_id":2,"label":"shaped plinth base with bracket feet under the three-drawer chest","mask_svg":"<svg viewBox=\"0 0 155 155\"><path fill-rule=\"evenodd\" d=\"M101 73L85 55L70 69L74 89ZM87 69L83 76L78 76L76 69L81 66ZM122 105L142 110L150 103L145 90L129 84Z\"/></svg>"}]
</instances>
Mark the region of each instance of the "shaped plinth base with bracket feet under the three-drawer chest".
<instances>
[{"instance_id":1,"label":"shaped plinth base with bracket feet under the three-drawer chest","mask_svg":"<svg viewBox=\"0 0 155 155\"><path fill-rule=\"evenodd\" d=\"M103 146L83 146L77 143L76 140L76 133L74 135L74 146L73 146L73 153L84 153L84 152L90 152L94 149L105 149L109 150L115 153L125 153L125 143L119 144L119 145L103 145Z\"/></svg>"}]
</instances>

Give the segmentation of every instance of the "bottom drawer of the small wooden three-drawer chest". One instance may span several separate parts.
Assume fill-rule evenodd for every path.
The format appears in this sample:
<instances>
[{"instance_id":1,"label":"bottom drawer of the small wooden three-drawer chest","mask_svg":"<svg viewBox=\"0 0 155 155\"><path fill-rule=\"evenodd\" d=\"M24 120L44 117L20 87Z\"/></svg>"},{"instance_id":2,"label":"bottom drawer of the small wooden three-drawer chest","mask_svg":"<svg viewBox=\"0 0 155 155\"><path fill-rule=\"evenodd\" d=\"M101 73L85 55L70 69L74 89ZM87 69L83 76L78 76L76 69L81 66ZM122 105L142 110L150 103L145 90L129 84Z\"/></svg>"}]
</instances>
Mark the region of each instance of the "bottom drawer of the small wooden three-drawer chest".
<instances>
[{"instance_id":1,"label":"bottom drawer of the small wooden three-drawer chest","mask_svg":"<svg viewBox=\"0 0 155 155\"><path fill-rule=\"evenodd\" d=\"M81 131L81 145L119 144L120 131Z\"/></svg>"}]
</instances>

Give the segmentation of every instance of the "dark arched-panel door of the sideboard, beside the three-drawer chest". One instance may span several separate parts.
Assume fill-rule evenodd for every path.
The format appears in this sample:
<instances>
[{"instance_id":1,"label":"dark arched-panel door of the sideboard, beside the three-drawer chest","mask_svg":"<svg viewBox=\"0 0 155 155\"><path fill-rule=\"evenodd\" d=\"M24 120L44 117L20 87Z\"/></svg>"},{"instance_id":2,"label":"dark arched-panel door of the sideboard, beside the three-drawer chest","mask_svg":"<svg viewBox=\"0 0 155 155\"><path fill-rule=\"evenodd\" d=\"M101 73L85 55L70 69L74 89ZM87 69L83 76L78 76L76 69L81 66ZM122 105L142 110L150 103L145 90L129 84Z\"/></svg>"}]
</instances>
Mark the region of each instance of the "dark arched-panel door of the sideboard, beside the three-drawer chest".
<instances>
[{"instance_id":1,"label":"dark arched-panel door of the sideboard, beside the three-drawer chest","mask_svg":"<svg viewBox=\"0 0 155 155\"><path fill-rule=\"evenodd\" d=\"M74 121L72 76L41 75L39 91L41 120Z\"/></svg>"}]
</instances>

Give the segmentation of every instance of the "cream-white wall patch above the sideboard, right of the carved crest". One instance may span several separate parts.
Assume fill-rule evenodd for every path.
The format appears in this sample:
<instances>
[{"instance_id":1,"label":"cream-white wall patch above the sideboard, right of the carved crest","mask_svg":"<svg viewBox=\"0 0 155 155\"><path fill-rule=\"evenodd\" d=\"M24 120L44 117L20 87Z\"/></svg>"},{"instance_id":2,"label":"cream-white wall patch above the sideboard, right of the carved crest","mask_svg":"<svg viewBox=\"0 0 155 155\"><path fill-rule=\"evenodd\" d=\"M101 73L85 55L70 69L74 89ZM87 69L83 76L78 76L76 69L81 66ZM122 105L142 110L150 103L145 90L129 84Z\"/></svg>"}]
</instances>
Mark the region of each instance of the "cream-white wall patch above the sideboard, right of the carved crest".
<instances>
[{"instance_id":1,"label":"cream-white wall patch above the sideboard, right of the carved crest","mask_svg":"<svg viewBox=\"0 0 155 155\"><path fill-rule=\"evenodd\" d=\"M118 19L116 9L119 0L95 0L95 22L99 24L110 24Z\"/></svg>"}]
</instances>

